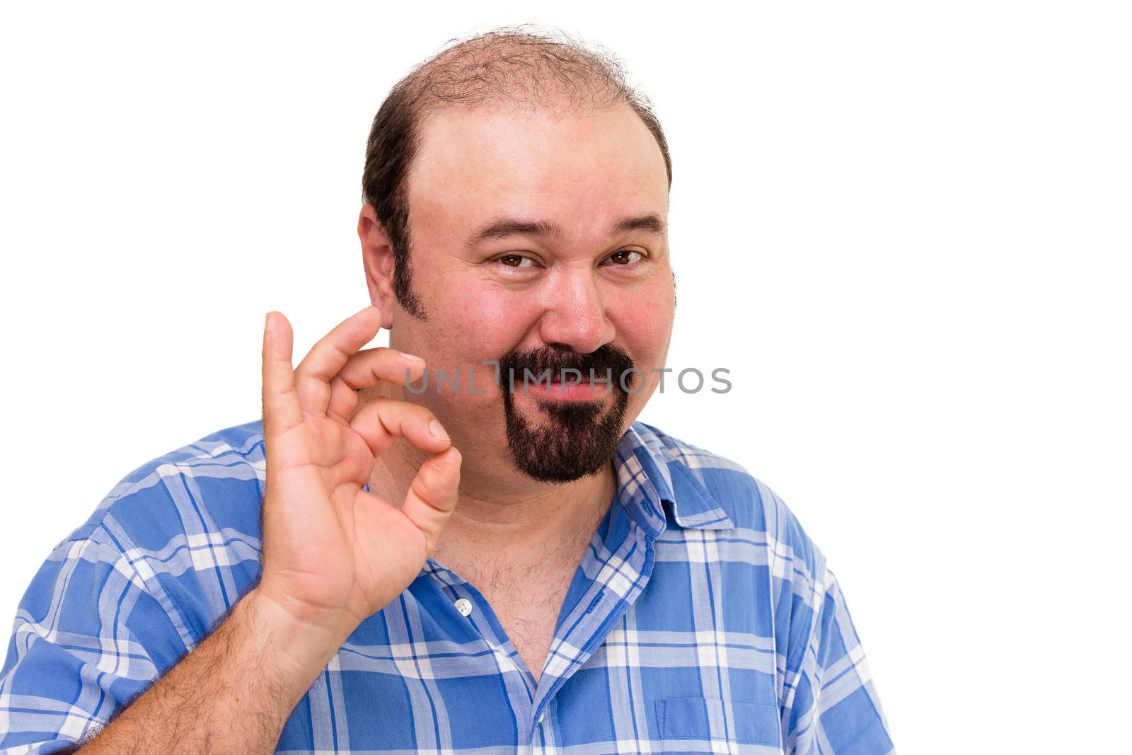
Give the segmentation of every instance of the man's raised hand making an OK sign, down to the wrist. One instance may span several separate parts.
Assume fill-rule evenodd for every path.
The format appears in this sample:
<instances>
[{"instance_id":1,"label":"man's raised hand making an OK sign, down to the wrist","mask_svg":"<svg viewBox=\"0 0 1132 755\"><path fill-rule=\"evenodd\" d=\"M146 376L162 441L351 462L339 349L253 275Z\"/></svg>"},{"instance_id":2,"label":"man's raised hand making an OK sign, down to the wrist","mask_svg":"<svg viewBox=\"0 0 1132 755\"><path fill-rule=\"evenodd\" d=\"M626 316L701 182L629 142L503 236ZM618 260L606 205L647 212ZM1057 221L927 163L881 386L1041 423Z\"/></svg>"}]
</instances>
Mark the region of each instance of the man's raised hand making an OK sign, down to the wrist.
<instances>
[{"instance_id":1,"label":"man's raised hand making an OK sign, down to the wrist","mask_svg":"<svg viewBox=\"0 0 1132 755\"><path fill-rule=\"evenodd\" d=\"M267 483L255 592L325 633L333 650L417 577L460 487L460 452L430 411L379 398L354 415L359 388L404 385L406 372L417 379L424 368L395 349L358 351L379 323L379 310L367 307L315 344L294 371L290 323L268 312L264 328ZM435 454L401 507L361 489L394 437Z\"/></svg>"}]
</instances>

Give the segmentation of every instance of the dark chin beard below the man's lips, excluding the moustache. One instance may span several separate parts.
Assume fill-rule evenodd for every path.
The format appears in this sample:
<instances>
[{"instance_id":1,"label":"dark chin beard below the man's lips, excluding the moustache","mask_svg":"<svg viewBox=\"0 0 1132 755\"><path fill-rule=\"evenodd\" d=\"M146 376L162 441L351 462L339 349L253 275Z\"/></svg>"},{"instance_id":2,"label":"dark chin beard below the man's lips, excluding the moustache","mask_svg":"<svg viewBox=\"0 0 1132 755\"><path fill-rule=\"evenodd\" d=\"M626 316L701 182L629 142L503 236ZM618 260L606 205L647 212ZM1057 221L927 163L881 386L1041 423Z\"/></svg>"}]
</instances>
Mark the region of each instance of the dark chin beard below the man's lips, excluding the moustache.
<instances>
[{"instance_id":1,"label":"dark chin beard below the man's lips, excluding the moustache","mask_svg":"<svg viewBox=\"0 0 1132 755\"><path fill-rule=\"evenodd\" d=\"M604 401L535 400L546 418L528 420L503 392L507 446L515 469L541 482L573 482L597 474L617 451L628 394L615 389ZM610 403L602 417L604 404Z\"/></svg>"}]
</instances>

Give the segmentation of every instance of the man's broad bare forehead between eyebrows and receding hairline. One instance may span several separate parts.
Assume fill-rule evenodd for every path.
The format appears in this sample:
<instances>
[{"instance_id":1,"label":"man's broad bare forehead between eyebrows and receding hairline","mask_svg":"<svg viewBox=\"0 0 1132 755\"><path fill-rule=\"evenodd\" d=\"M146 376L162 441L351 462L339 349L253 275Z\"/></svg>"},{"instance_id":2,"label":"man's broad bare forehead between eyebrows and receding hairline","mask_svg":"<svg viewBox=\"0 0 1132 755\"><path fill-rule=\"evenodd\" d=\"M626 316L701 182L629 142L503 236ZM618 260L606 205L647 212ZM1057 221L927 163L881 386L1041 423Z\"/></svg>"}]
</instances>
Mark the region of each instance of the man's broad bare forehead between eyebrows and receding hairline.
<instances>
[{"instance_id":1,"label":"man's broad bare forehead between eyebrows and receding hairline","mask_svg":"<svg viewBox=\"0 0 1132 755\"><path fill-rule=\"evenodd\" d=\"M627 105L588 113L439 110L420 129L408 190L417 220L454 226L518 213L577 228L625 212L664 216L668 208L660 147Z\"/></svg>"}]
</instances>

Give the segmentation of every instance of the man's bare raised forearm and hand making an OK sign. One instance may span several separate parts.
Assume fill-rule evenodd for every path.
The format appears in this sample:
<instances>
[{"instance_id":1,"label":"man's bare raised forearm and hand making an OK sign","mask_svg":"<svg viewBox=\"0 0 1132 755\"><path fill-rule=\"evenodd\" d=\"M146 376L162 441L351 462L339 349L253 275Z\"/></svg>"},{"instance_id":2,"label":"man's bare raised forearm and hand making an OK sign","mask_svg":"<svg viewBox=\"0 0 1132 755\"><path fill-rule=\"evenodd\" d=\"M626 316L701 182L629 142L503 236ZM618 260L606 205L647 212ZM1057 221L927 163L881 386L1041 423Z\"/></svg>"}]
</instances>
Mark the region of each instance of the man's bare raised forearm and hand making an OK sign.
<instances>
[{"instance_id":1,"label":"man's bare raised forearm and hand making an OK sign","mask_svg":"<svg viewBox=\"0 0 1132 755\"><path fill-rule=\"evenodd\" d=\"M78 752L269 753L338 646L420 573L456 505L460 453L422 406L358 409L358 388L417 379L424 362L358 351L378 329L367 307L291 368L291 325L264 326L264 565L204 642ZM430 456L402 507L362 490L394 437ZM75 752L74 748L63 752Z\"/></svg>"}]
</instances>

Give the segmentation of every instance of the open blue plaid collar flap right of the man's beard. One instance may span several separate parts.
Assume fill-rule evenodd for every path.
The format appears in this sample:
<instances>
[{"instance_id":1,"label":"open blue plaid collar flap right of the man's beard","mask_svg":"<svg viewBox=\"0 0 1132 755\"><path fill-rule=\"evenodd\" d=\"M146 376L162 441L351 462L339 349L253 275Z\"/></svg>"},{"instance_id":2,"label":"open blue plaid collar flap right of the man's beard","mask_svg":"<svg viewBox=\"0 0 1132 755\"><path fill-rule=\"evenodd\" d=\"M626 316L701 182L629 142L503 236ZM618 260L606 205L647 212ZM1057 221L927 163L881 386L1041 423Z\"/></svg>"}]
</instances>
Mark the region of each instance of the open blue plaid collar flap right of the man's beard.
<instances>
[{"instance_id":1,"label":"open blue plaid collar flap right of the man's beard","mask_svg":"<svg viewBox=\"0 0 1132 755\"><path fill-rule=\"evenodd\" d=\"M618 498L629 516L654 538L664 531L662 501L684 529L730 530L731 517L688 469L684 458L661 440L660 431L634 422L617 444Z\"/></svg>"}]
</instances>

